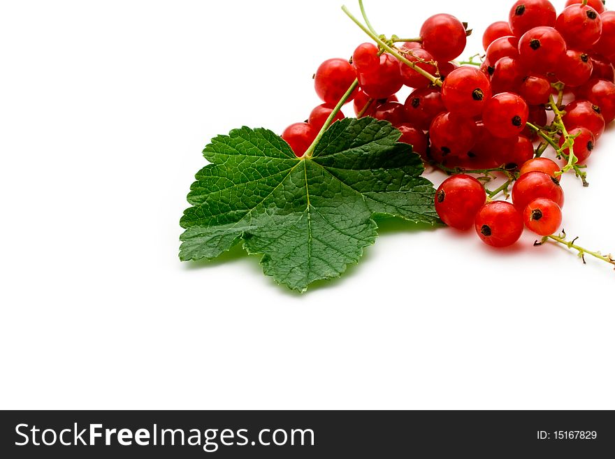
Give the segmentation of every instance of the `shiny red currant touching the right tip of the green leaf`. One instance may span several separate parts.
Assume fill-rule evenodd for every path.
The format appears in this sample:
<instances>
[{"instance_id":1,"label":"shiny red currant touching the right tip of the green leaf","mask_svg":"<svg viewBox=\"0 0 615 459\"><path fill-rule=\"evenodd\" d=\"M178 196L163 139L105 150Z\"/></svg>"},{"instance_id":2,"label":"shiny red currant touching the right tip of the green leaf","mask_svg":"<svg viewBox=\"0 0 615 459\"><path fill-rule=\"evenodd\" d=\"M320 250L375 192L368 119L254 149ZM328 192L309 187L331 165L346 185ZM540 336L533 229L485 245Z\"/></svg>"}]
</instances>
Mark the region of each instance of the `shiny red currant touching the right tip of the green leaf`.
<instances>
[{"instance_id":1,"label":"shiny red currant touching the right tip of the green leaf","mask_svg":"<svg viewBox=\"0 0 615 459\"><path fill-rule=\"evenodd\" d=\"M476 214L486 201L485 190L470 175L453 175L435 193L435 211L445 224L464 231L472 228Z\"/></svg>"}]
</instances>

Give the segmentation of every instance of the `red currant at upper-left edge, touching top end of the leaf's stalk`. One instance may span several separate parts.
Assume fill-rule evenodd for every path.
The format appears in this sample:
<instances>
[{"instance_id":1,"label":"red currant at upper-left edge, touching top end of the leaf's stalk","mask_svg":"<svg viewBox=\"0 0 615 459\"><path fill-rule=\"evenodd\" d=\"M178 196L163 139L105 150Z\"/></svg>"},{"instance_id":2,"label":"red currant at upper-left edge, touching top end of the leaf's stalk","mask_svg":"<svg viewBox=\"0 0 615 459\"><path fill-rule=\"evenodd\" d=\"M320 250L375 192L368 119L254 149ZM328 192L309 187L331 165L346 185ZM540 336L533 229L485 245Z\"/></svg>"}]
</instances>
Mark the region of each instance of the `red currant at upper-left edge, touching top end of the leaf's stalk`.
<instances>
[{"instance_id":1,"label":"red currant at upper-left edge, touching top end of the leaf's stalk","mask_svg":"<svg viewBox=\"0 0 615 459\"><path fill-rule=\"evenodd\" d=\"M314 89L324 103L337 104L356 79L352 65L345 59L328 59L320 64L314 75ZM352 101L356 92L347 100Z\"/></svg>"}]
</instances>

